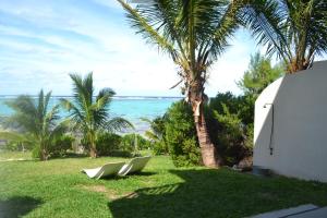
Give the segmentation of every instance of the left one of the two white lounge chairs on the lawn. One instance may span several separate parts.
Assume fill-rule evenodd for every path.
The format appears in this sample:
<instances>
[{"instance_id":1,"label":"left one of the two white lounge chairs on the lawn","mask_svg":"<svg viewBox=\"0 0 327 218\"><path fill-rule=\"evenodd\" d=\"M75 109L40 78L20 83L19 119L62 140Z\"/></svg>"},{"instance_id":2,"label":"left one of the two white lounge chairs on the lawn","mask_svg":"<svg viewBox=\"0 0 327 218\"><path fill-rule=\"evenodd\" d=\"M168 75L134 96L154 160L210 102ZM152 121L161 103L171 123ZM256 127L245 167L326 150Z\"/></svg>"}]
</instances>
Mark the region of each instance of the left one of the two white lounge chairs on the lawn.
<instances>
[{"instance_id":1,"label":"left one of the two white lounge chairs on the lawn","mask_svg":"<svg viewBox=\"0 0 327 218\"><path fill-rule=\"evenodd\" d=\"M89 178L98 180L102 177L117 174L124 164L125 162L108 162L98 168L83 169L82 172L85 172Z\"/></svg>"}]
</instances>

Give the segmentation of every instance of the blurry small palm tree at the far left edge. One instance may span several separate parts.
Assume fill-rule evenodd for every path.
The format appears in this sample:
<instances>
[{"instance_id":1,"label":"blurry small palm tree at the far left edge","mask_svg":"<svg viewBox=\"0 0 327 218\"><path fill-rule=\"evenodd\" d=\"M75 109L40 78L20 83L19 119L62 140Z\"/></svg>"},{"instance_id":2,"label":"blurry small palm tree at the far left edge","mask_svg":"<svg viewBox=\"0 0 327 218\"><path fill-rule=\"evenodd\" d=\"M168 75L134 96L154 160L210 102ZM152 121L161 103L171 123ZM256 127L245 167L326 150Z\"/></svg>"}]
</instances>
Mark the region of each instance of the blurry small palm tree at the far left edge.
<instances>
[{"instance_id":1,"label":"blurry small palm tree at the far left edge","mask_svg":"<svg viewBox=\"0 0 327 218\"><path fill-rule=\"evenodd\" d=\"M51 93L45 96L44 90L40 90L36 100L22 95L7 102L14 110L7 125L15 131L1 132L0 137L38 146L40 159L47 160L48 147L66 131L65 121L58 123L59 106L49 109L50 97Z\"/></svg>"}]
</instances>

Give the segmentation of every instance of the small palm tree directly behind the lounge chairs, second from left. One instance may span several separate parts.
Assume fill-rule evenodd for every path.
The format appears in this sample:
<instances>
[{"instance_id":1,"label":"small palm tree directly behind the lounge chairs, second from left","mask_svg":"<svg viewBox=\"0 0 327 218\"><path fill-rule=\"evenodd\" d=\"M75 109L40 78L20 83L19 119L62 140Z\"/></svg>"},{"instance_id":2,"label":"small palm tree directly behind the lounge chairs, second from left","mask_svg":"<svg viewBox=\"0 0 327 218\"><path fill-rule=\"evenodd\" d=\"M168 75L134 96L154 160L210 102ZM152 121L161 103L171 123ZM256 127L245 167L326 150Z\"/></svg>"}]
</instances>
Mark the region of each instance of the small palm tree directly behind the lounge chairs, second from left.
<instances>
[{"instance_id":1,"label":"small palm tree directly behind the lounge chairs, second from left","mask_svg":"<svg viewBox=\"0 0 327 218\"><path fill-rule=\"evenodd\" d=\"M73 80L73 101L61 99L61 105L70 112L73 128L85 134L90 157L97 157L96 141L99 131L121 131L133 125L122 118L109 119L109 105L114 92L104 88L94 98L93 73L85 78L77 74L70 76Z\"/></svg>"}]
</instances>

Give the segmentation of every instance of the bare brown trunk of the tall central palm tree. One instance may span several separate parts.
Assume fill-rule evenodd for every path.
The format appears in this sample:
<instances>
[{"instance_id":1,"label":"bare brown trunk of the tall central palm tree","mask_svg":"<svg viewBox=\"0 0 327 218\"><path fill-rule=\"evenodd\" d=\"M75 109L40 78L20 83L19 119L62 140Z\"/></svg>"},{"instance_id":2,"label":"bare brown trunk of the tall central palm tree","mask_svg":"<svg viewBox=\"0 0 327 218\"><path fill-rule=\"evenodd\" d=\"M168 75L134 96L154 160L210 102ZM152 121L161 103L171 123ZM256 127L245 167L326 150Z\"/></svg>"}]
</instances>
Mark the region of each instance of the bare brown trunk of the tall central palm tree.
<instances>
[{"instance_id":1,"label":"bare brown trunk of the tall central palm tree","mask_svg":"<svg viewBox=\"0 0 327 218\"><path fill-rule=\"evenodd\" d=\"M218 152L215 145L211 143L208 134L203 110L204 99L202 89L203 88L191 88L189 93L189 100L192 105L203 164L206 167L217 168L222 165L222 159L218 155Z\"/></svg>"}]
</instances>

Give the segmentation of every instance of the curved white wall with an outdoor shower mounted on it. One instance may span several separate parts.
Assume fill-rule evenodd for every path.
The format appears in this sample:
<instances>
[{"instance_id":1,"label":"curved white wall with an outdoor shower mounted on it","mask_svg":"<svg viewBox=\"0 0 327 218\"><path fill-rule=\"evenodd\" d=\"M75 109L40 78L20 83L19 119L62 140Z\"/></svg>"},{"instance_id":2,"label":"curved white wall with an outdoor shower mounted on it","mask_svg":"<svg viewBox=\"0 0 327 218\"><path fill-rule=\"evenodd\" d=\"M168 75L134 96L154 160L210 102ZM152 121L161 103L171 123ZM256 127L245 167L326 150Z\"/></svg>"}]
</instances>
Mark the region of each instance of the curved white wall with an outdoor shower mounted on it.
<instances>
[{"instance_id":1,"label":"curved white wall with an outdoor shower mounted on it","mask_svg":"<svg viewBox=\"0 0 327 218\"><path fill-rule=\"evenodd\" d=\"M327 61L286 75L261 94L254 145L254 166L327 182Z\"/></svg>"}]
</instances>

